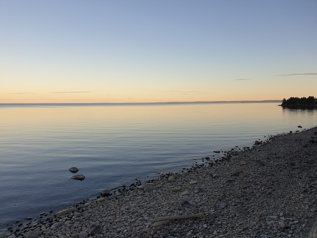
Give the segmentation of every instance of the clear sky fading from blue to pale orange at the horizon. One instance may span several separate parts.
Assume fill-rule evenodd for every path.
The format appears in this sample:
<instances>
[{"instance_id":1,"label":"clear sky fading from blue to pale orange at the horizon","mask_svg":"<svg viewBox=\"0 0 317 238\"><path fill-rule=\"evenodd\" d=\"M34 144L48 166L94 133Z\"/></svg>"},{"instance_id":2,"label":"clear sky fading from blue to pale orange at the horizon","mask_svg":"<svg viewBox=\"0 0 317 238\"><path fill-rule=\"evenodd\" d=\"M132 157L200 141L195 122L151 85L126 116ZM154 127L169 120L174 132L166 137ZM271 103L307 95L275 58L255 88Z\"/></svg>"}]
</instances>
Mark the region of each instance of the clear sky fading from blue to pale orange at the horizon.
<instances>
[{"instance_id":1,"label":"clear sky fading from blue to pale orange at the horizon","mask_svg":"<svg viewBox=\"0 0 317 238\"><path fill-rule=\"evenodd\" d=\"M317 1L1 0L0 103L317 96Z\"/></svg>"}]
</instances>

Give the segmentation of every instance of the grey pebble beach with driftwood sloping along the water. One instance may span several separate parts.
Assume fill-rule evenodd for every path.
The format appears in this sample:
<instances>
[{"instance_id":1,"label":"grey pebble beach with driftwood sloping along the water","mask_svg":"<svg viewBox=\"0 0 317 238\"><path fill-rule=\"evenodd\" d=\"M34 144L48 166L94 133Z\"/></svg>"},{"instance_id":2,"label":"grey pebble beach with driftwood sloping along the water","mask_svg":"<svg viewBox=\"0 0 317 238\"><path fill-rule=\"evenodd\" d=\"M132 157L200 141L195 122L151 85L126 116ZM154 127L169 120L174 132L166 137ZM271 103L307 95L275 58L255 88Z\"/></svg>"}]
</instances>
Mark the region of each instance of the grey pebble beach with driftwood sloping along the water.
<instances>
[{"instance_id":1,"label":"grey pebble beach with driftwood sloping along the water","mask_svg":"<svg viewBox=\"0 0 317 238\"><path fill-rule=\"evenodd\" d=\"M316 137L312 128L206 157L33 223L9 224L0 238L307 237L317 216Z\"/></svg>"}]
</instances>

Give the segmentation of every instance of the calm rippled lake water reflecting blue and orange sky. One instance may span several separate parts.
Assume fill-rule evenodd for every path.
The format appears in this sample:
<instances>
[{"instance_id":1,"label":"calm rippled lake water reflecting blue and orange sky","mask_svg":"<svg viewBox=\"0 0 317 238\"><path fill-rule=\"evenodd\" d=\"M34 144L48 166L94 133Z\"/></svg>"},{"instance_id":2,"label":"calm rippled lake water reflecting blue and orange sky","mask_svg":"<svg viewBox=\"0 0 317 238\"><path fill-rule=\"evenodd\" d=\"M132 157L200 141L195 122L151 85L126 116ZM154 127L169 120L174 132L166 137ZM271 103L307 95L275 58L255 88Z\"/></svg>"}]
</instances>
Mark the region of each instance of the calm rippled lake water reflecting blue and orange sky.
<instances>
[{"instance_id":1,"label":"calm rippled lake water reflecting blue and orange sky","mask_svg":"<svg viewBox=\"0 0 317 238\"><path fill-rule=\"evenodd\" d=\"M277 105L0 104L0 228L178 172L216 149L316 126L317 110ZM85 180L70 180L70 167Z\"/></svg>"}]
</instances>

